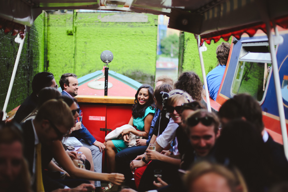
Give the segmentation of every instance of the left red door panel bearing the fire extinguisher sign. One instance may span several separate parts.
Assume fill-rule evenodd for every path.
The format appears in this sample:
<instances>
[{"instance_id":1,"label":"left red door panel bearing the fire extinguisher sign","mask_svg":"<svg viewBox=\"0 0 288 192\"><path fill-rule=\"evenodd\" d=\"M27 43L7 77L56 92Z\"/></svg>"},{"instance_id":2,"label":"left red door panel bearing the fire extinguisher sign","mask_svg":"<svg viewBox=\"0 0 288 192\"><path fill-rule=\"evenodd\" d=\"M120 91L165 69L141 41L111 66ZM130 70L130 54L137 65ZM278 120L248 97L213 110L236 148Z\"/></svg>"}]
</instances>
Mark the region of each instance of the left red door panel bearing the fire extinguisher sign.
<instances>
[{"instance_id":1,"label":"left red door panel bearing the fire extinguisher sign","mask_svg":"<svg viewBox=\"0 0 288 192\"><path fill-rule=\"evenodd\" d=\"M82 122L84 126L90 131L97 141L105 141L105 132L100 131L100 128L106 128L106 121L89 120L89 116L106 117L106 105L94 105L94 104L79 104L82 112ZM91 119L91 118L90 118Z\"/></svg>"}]
</instances>

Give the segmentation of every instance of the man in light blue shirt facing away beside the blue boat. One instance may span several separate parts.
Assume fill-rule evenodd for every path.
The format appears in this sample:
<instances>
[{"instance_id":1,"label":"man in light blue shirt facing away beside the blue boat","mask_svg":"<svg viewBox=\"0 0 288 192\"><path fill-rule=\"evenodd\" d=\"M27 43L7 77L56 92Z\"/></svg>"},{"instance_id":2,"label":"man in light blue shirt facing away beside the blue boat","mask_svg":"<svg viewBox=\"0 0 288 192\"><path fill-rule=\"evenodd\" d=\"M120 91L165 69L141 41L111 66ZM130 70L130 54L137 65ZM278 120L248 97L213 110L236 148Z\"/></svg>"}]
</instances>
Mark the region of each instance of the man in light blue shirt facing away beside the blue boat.
<instances>
[{"instance_id":1,"label":"man in light blue shirt facing away beside the blue boat","mask_svg":"<svg viewBox=\"0 0 288 192\"><path fill-rule=\"evenodd\" d=\"M230 51L230 44L222 42L216 49L218 64L210 71L207 76L207 84L210 97L216 101L218 90L225 72L228 56ZM203 85L203 96L205 96L204 85Z\"/></svg>"}]
</instances>

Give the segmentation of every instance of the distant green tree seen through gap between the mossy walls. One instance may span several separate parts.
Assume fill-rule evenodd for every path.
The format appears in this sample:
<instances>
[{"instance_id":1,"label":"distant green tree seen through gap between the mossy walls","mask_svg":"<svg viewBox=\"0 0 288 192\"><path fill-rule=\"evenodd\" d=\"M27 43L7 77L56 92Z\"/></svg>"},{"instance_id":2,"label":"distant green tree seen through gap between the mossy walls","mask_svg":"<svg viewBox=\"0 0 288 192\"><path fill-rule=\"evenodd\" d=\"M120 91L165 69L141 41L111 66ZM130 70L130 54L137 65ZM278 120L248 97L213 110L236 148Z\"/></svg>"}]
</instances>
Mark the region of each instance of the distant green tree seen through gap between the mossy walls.
<instances>
[{"instance_id":1,"label":"distant green tree seen through gap between the mossy walls","mask_svg":"<svg viewBox=\"0 0 288 192\"><path fill-rule=\"evenodd\" d=\"M179 37L176 34L169 35L161 40L160 50L162 54L171 54L171 46L173 46L173 55L177 56L179 52Z\"/></svg>"}]
</instances>

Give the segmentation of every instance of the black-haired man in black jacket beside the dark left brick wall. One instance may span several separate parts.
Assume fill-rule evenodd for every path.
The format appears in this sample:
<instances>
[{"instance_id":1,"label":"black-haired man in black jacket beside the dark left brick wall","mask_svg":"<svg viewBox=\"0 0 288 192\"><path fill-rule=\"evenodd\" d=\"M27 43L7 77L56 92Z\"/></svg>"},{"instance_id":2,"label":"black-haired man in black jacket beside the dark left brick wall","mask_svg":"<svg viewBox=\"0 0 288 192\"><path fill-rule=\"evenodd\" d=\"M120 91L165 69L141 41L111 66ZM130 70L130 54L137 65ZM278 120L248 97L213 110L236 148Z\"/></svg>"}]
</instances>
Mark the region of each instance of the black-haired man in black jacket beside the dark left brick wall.
<instances>
[{"instance_id":1,"label":"black-haired man in black jacket beside the dark left brick wall","mask_svg":"<svg viewBox=\"0 0 288 192\"><path fill-rule=\"evenodd\" d=\"M20 123L25 117L27 117L36 107L38 102L38 94L42 88L54 87L58 88L58 85L54 79L54 75L50 72L37 73L32 81L32 93L29 95L24 102L20 105L17 110L14 120Z\"/></svg>"}]
</instances>

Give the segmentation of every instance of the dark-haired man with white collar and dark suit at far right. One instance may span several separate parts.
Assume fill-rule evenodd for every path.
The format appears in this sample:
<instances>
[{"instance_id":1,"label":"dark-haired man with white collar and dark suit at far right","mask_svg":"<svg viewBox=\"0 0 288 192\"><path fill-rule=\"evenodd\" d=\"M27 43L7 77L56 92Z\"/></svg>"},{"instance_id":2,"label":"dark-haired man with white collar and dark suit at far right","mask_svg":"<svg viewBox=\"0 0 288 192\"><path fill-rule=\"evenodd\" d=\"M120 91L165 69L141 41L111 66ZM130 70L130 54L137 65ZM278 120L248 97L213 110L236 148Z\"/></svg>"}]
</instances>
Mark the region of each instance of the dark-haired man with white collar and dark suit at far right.
<instances>
[{"instance_id":1,"label":"dark-haired man with white collar and dark suit at far right","mask_svg":"<svg viewBox=\"0 0 288 192\"><path fill-rule=\"evenodd\" d=\"M274 162L275 172L283 179L288 179L288 161L285 157L283 145L275 142L264 129L262 109L259 103L248 94L239 94L227 100L218 113L221 124L224 125L233 119L243 119L255 126L262 135L265 146Z\"/></svg>"}]
</instances>

